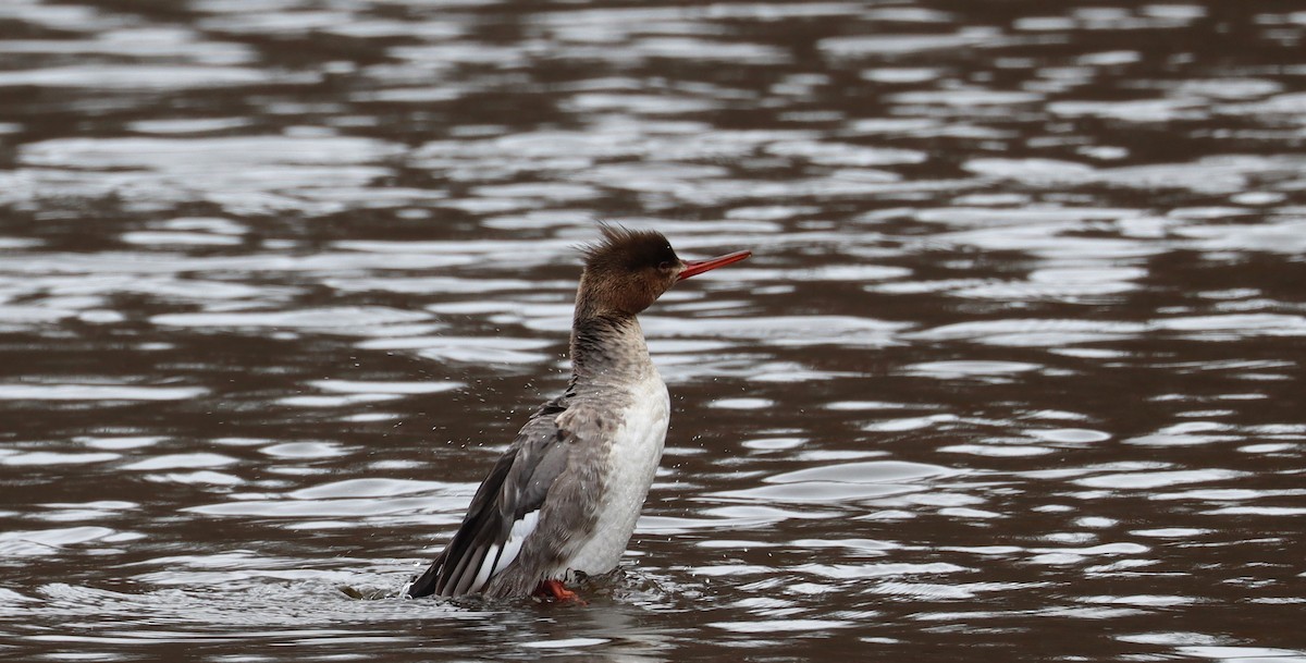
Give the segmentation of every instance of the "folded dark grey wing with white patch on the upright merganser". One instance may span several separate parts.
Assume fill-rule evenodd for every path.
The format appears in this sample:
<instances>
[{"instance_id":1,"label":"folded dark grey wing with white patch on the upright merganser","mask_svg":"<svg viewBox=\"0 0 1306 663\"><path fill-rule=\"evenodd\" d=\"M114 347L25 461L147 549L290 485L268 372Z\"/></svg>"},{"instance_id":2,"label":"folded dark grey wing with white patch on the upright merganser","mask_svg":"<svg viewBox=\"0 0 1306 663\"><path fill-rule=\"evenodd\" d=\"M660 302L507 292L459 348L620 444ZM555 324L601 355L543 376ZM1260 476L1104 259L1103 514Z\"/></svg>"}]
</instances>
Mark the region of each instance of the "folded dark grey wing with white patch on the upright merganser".
<instances>
[{"instance_id":1,"label":"folded dark grey wing with white patch on the upright merganser","mask_svg":"<svg viewBox=\"0 0 1306 663\"><path fill-rule=\"evenodd\" d=\"M512 523L541 508L549 487L567 466L568 449L555 423L565 410L563 399L554 399L530 416L481 483L444 552L409 586L410 596L458 596L482 589L475 579L487 553L495 551L490 565L498 565Z\"/></svg>"}]
</instances>

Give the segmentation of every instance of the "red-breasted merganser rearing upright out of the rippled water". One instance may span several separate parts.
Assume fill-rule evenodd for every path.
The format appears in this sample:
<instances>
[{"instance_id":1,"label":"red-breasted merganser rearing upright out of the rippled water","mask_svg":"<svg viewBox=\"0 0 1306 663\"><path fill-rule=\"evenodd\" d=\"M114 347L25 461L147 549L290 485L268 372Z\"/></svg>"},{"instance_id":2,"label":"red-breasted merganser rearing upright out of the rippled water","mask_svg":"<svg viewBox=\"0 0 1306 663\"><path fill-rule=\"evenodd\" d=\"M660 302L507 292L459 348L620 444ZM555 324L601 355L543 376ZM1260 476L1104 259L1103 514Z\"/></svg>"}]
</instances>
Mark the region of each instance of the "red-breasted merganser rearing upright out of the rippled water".
<instances>
[{"instance_id":1,"label":"red-breasted merganser rearing upright out of the rippled water","mask_svg":"<svg viewBox=\"0 0 1306 663\"><path fill-rule=\"evenodd\" d=\"M673 285L751 253L680 260L660 232L602 226L584 248L567 392L530 416L410 596L551 596L616 568L666 440L670 401L636 315Z\"/></svg>"}]
</instances>

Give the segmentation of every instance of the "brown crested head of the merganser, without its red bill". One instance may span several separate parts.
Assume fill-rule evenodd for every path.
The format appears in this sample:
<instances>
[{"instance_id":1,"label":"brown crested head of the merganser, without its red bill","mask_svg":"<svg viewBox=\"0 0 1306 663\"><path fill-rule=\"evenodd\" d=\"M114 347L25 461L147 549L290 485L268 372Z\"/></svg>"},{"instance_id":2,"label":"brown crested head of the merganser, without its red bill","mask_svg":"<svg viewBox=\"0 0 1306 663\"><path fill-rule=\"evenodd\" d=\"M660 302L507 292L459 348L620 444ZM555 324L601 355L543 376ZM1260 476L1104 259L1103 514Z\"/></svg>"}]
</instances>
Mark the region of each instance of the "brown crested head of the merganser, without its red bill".
<instances>
[{"instance_id":1,"label":"brown crested head of the merganser, without its red bill","mask_svg":"<svg viewBox=\"0 0 1306 663\"><path fill-rule=\"evenodd\" d=\"M657 231L599 224L602 239L581 248L585 271L576 295L576 316L633 316L662 296L680 277L684 262Z\"/></svg>"}]
</instances>

